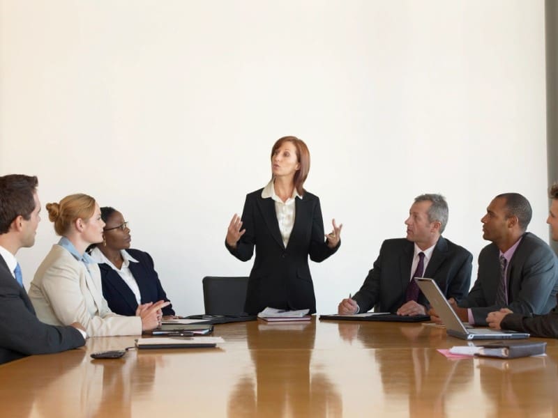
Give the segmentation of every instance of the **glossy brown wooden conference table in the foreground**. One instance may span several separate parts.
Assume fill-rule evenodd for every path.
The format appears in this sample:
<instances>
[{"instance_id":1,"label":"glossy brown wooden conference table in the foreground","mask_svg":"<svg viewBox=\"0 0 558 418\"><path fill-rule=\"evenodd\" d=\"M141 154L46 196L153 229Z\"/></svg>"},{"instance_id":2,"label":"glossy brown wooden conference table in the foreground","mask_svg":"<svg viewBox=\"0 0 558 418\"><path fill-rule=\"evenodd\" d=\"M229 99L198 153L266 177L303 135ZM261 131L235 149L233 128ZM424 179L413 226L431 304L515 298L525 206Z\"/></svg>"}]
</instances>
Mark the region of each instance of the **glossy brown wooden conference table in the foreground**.
<instances>
[{"instance_id":1,"label":"glossy brown wooden conference table in the foreground","mask_svg":"<svg viewBox=\"0 0 558 418\"><path fill-rule=\"evenodd\" d=\"M220 348L130 350L133 336L0 366L2 417L548 417L558 341L546 357L447 359L443 329L320 321L215 326Z\"/></svg>"}]
</instances>

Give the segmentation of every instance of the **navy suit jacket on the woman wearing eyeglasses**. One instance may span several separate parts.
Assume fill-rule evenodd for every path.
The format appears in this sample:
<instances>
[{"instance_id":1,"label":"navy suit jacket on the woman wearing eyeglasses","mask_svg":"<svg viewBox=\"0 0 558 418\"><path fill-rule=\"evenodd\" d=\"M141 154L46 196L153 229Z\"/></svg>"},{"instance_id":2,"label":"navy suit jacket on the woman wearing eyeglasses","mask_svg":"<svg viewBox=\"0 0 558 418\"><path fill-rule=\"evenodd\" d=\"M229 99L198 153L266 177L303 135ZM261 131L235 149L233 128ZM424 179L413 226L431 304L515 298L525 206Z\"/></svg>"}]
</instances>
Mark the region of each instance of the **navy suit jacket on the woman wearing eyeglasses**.
<instances>
[{"instance_id":1,"label":"navy suit jacket on the woman wearing eyeglasses","mask_svg":"<svg viewBox=\"0 0 558 418\"><path fill-rule=\"evenodd\" d=\"M128 254L133 256L138 263L130 262L129 268L132 272L137 286L140 288L142 304L167 300L167 294L161 286L159 276L155 271L153 258L139 249L127 249ZM120 274L114 271L110 265L99 264L100 279L103 284L103 296L107 300L110 310L115 314L134 316L137 309L137 301L133 291L123 281ZM163 315L174 315L172 305L162 309Z\"/></svg>"}]
</instances>

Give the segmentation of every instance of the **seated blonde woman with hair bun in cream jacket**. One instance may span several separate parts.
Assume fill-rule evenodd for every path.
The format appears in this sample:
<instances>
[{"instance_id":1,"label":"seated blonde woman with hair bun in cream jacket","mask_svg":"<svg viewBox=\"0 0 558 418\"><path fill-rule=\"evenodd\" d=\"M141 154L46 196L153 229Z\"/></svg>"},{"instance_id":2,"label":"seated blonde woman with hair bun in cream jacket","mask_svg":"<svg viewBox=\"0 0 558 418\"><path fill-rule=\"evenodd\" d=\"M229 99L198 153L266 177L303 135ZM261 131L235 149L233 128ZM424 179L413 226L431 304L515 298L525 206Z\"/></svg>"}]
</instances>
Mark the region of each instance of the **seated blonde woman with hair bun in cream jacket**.
<instances>
[{"instance_id":1,"label":"seated blonde woman with hair bun in cream jacket","mask_svg":"<svg viewBox=\"0 0 558 418\"><path fill-rule=\"evenodd\" d=\"M37 317L51 325L81 323L89 336L142 334L158 327L169 302L143 304L135 316L122 316L103 297L99 267L86 254L89 245L103 241L105 222L95 199L70 194L60 203L47 203L47 210L61 239L31 281L29 298Z\"/></svg>"}]
</instances>

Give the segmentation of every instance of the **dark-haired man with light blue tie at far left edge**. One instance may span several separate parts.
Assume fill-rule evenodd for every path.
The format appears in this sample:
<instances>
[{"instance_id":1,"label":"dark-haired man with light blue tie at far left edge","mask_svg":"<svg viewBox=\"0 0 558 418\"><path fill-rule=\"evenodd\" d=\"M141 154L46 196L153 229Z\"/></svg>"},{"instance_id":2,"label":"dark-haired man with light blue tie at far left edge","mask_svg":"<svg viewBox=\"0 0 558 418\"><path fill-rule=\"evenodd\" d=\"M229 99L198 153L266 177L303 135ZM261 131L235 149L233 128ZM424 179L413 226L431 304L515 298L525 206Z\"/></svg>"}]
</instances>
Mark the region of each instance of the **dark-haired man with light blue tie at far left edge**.
<instances>
[{"instance_id":1,"label":"dark-haired man with light blue tie at far left edge","mask_svg":"<svg viewBox=\"0 0 558 418\"><path fill-rule=\"evenodd\" d=\"M85 343L79 323L46 325L23 287L17 250L35 243L40 221L36 177L0 177L0 364L31 354L57 353Z\"/></svg>"}]
</instances>

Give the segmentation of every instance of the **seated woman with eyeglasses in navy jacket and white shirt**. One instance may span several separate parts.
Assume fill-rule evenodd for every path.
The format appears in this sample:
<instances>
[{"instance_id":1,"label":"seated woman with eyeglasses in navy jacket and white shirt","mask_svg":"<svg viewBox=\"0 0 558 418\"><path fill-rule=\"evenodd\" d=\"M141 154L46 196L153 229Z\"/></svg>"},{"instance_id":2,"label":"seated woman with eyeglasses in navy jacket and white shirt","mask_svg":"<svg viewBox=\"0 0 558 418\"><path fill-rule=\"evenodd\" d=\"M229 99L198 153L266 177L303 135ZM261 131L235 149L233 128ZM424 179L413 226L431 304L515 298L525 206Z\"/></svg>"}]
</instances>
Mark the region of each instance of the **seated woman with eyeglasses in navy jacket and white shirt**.
<instances>
[{"instance_id":1,"label":"seated woman with eyeglasses in navy jacket and white shirt","mask_svg":"<svg viewBox=\"0 0 558 418\"><path fill-rule=\"evenodd\" d=\"M163 318L179 318L161 286L153 265L153 258L144 251L131 249L130 228L121 212L114 208L100 208L105 222L103 242L93 246L89 254L99 263L103 295L116 314L135 315L142 303L165 300Z\"/></svg>"}]
</instances>

